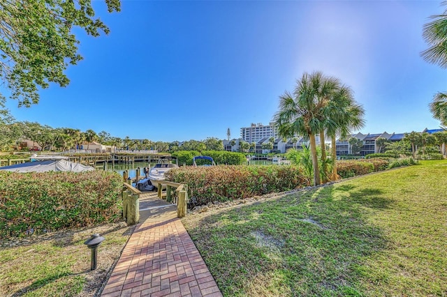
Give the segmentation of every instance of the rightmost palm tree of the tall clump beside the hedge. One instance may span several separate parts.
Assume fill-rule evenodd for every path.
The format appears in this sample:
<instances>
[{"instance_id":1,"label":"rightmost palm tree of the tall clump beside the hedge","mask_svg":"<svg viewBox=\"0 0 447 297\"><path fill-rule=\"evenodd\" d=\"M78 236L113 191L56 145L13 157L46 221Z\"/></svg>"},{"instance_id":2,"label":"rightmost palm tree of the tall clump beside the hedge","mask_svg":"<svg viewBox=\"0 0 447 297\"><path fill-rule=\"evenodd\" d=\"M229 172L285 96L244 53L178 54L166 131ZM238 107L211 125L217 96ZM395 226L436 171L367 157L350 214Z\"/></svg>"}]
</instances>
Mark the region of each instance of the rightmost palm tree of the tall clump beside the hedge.
<instances>
[{"instance_id":1,"label":"rightmost palm tree of the tall clump beside the hedge","mask_svg":"<svg viewBox=\"0 0 447 297\"><path fill-rule=\"evenodd\" d=\"M342 85L333 93L325 107L325 129L331 139L332 180L337 179L337 135L346 139L353 130L365 125L365 109L354 100L349 86Z\"/></svg>"}]
</instances>

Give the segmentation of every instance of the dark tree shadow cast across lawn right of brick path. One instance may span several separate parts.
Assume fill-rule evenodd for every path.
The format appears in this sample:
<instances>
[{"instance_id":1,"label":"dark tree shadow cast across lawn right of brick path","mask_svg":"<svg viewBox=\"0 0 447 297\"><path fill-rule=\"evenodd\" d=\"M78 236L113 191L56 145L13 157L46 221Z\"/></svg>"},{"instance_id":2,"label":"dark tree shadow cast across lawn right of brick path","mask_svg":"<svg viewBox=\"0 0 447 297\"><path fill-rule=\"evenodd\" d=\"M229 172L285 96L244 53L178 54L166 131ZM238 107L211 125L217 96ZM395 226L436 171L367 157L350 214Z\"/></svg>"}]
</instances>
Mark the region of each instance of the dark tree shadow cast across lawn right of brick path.
<instances>
[{"instance_id":1,"label":"dark tree shadow cast across lawn right of brick path","mask_svg":"<svg viewBox=\"0 0 447 297\"><path fill-rule=\"evenodd\" d=\"M359 267L387 245L365 207L390 203L380 189L331 185L212 214L188 231L224 296L360 296Z\"/></svg>"}]
</instances>

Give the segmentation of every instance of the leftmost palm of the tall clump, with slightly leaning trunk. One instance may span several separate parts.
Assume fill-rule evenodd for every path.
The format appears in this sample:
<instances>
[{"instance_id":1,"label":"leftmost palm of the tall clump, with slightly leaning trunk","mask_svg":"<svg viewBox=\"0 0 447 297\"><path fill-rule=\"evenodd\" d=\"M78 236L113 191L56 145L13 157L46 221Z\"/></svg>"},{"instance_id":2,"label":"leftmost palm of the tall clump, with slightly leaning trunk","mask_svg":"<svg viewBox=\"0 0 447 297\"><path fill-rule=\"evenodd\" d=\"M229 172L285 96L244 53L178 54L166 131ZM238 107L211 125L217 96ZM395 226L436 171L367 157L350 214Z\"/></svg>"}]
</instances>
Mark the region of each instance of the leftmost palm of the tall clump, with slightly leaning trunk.
<instances>
[{"instance_id":1,"label":"leftmost palm of the tall clump, with slightly leaning trunk","mask_svg":"<svg viewBox=\"0 0 447 297\"><path fill-rule=\"evenodd\" d=\"M321 112L326 104L322 73L304 73L297 81L293 93L286 91L279 96L279 111L274 115L274 121L281 137L304 135L310 142L312 166L314 167L314 185L321 183L320 169L316 155L315 135L324 128ZM319 82L319 83L318 83Z\"/></svg>"}]
</instances>

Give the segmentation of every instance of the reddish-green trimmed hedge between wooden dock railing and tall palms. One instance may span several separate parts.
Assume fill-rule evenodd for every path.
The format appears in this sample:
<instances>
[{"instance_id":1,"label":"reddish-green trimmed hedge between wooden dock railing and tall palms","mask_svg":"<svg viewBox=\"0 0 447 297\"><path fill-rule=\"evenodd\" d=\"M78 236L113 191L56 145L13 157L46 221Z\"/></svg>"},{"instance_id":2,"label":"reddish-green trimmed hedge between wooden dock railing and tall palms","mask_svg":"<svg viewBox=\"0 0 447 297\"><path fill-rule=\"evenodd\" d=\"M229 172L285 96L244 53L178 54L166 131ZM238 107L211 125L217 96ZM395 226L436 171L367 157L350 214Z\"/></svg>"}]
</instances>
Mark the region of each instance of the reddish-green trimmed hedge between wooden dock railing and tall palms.
<instances>
[{"instance_id":1,"label":"reddish-green trimmed hedge between wooden dock railing and tall palms","mask_svg":"<svg viewBox=\"0 0 447 297\"><path fill-rule=\"evenodd\" d=\"M182 167L166 173L168 181L188 185L189 206L281 192L308 185L295 166Z\"/></svg>"}]
</instances>

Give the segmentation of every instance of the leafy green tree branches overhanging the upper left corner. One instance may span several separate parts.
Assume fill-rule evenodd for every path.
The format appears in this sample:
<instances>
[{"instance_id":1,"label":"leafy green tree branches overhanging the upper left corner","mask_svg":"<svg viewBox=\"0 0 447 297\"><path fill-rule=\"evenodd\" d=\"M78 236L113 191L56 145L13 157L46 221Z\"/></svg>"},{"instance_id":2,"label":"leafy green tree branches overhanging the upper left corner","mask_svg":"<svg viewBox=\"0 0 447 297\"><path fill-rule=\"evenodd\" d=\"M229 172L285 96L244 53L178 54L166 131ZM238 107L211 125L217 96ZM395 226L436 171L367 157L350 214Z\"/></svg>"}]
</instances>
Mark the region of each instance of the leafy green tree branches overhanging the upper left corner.
<instances>
[{"instance_id":1,"label":"leafy green tree branches overhanging the upper left corner","mask_svg":"<svg viewBox=\"0 0 447 297\"><path fill-rule=\"evenodd\" d=\"M105 3L110 13L120 10L119 0ZM64 71L82 60L75 27L91 36L110 31L94 17L91 0L0 1L0 79L19 106L38 103L38 89L50 82L68 85Z\"/></svg>"}]
</instances>

